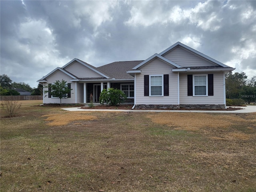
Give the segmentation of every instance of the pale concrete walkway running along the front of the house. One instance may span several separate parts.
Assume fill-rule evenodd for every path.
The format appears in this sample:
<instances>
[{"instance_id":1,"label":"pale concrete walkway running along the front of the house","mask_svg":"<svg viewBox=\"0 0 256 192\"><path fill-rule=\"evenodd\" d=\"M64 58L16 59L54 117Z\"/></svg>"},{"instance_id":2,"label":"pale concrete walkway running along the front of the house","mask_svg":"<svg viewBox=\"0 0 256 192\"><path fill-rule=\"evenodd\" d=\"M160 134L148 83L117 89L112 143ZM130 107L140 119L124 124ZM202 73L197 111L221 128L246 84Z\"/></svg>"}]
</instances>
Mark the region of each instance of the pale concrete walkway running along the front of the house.
<instances>
[{"instance_id":1,"label":"pale concrete walkway running along the front of the house","mask_svg":"<svg viewBox=\"0 0 256 192\"><path fill-rule=\"evenodd\" d=\"M118 110L118 109L81 109L81 107L62 108L67 111L121 111L121 112L192 112L192 113L252 113L256 112L256 106L234 107L243 108L234 111L222 110Z\"/></svg>"}]
</instances>

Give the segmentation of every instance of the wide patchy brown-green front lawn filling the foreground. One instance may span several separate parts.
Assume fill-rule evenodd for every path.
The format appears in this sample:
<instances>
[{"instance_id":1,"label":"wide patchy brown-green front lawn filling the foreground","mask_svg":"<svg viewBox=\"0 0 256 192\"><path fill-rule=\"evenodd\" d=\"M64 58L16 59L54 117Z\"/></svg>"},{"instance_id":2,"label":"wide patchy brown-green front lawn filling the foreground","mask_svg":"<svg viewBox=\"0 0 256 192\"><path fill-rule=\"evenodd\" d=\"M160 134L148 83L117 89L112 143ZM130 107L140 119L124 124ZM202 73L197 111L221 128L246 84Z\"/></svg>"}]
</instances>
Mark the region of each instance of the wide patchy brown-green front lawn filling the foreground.
<instances>
[{"instance_id":1,"label":"wide patchy brown-green front lawn filling the foreground","mask_svg":"<svg viewBox=\"0 0 256 192\"><path fill-rule=\"evenodd\" d=\"M1 191L256 191L255 113L68 112L34 105L24 104L13 118L1 113ZM47 124L44 115L61 114L96 118ZM206 126L204 119L216 123Z\"/></svg>"}]
</instances>

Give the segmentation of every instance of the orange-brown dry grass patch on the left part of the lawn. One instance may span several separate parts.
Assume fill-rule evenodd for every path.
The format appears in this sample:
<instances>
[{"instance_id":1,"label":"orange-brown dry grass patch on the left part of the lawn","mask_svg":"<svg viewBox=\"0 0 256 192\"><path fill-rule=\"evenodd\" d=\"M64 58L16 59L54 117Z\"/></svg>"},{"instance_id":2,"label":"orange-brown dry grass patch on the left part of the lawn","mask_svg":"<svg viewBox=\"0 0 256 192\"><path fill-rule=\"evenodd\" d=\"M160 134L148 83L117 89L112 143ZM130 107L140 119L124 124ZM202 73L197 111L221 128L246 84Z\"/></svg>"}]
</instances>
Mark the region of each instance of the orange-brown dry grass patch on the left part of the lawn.
<instances>
[{"instance_id":1,"label":"orange-brown dry grass patch on the left part of the lawn","mask_svg":"<svg viewBox=\"0 0 256 192\"><path fill-rule=\"evenodd\" d=\"M45 120L49 121L47 124L50 126L63 126L67 125L70 122L78 120L94 120L97 117L93 115L87 115L83 112L71 112L67 114L48 114L41 117L47 117Z\"/></svg>"}]
</instances>

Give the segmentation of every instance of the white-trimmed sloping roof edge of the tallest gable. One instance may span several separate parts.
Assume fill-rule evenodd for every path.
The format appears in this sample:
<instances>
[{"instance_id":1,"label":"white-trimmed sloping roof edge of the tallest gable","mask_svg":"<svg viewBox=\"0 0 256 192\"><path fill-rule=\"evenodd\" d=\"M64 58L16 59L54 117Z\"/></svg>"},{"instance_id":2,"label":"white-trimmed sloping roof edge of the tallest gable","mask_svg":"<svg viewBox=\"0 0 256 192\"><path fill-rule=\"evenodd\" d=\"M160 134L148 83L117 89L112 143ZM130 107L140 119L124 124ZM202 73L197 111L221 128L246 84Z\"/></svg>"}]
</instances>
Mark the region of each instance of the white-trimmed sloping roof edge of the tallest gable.
<instances>
[{"instance_id":1,"label":"white-trimmed sloping roof edge of the tallest gable","mask_svg":"<svg viewBox=\"0 0 256 192\"><path fill-rule=\"evenodd\" d=\"M200 56L201 58L204 58L206 60L209 60L210 62L214 62L215 64L218 64L222 67L228 67L227 65L213 59L213 58L210 58L209 56L205 55L205 54L202 54L201 52L197 51L197 50L194 50L193 48L189 47L189 46L186 46L185 44L182 44L181 42L176 42L175 44L173 44L172 46L170 46L169 48L167 48L166 50L162 51L159 53L159 55L163 56L164 54L172 51L173 49L175 49L177 46L180 46L181 48L184 48L186 50L188 50L189 52L193 53L193 54L196 54L198 56Z\"/></svg>"}]
</instances>

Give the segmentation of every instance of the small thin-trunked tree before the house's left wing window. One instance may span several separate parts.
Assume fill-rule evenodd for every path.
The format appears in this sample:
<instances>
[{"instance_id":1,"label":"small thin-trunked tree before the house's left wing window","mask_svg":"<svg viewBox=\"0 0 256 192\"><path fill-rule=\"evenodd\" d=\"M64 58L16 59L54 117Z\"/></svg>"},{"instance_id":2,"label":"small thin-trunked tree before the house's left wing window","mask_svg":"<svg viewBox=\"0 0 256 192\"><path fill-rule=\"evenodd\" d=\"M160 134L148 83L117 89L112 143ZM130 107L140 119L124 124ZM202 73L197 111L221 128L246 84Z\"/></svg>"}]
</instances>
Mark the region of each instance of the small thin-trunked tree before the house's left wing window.
<instances>
[{"instance_id":1,"label":"small thin-trunked tree before the house's left wing window","mask_svg":"<svg viewBox=\"0 0 256 192\"><path fill-rule=\"evenodd\" d=\"M45 86L45 88L50 88L50 90L44 91L44 93L49 93L52 94L53 97L58 97L60 98L60 105L61 105L61 99L66 98L67 94L72 90L70 89L66 81L62 79L62 81L56 80L55 83L53 84L48 84L48 86Z\"/></svg>"}]
</instances>

